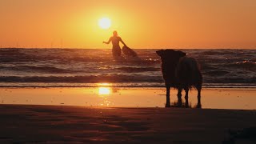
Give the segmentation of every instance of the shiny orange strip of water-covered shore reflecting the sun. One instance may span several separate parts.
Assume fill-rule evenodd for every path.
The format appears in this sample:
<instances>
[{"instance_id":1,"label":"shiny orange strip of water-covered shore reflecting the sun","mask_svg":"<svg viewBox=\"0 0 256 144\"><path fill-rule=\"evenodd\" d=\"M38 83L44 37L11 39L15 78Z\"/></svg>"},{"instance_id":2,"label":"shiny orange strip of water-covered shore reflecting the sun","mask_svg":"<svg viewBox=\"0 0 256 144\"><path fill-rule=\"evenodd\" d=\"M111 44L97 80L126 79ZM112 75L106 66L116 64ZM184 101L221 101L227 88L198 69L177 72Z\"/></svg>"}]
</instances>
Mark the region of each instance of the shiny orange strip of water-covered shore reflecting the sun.
<instances>
[{"instance_id":1,"label":"shiny orange strip of water-covered shore reflecting the sun","mask_svg":"<svg viewBox=\"0 0 256 144\"><path fill-rule=\"evenodd\" d=\"M177 102L176 90L170 91L171 105ZM189 106L197 104L196 90L190 91ZM183 98L183 97L182 97ZM184 98L183 98L184 100ZM0 88L2 104L106 106L106 107L164 107L164 88ZM202 90L203 109L256 110L255 88L205 88Z\"/></svg>"}]
</instances>

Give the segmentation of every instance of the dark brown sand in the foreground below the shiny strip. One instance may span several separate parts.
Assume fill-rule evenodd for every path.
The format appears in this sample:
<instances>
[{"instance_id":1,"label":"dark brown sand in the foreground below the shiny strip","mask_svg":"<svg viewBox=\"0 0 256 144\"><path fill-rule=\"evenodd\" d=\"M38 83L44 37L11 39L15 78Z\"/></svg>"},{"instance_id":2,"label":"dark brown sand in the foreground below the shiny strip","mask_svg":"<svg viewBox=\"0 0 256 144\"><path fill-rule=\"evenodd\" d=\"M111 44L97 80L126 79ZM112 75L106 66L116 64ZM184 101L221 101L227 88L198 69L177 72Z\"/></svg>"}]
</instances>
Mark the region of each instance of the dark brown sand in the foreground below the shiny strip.
<instances>
[{"instance_id":1,"label":"dark brown sand in the foreground below the shiny strip","mask_svg":"<svg viewBox=\"0 0 256 144\"><path fill-rule=\"evenodd\" d=\"M255 110L0 105L0 115L0 143L215 144L256 126Z\"/></svg>"}]
</instances>

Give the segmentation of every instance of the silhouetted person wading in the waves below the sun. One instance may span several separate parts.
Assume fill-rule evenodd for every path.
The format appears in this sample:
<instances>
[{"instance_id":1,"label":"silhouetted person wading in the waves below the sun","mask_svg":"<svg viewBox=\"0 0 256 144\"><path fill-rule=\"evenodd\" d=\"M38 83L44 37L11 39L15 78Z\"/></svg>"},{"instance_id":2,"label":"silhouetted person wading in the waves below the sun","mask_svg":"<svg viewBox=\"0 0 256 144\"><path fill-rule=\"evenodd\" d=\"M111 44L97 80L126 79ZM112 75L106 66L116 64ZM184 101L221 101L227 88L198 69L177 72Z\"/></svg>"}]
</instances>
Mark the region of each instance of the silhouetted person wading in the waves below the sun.
<instances>
[{"instance_id":1,"label":"silhouetted person wading in the waves below the sun","mask_svg":"<svg viewBox=\"0 0 256 144\"><path fill-rule=\"evenodd\" d=\"M124 46L126 46L126 44L125 44L125 42L122 41L122 38L120 38L118 36L118 32L117 31L113 32L113 36L110 37L108 42L103 42L103 43L109 44L110 42L112 42L112 54L113 54L113 57L114 58L120 57L121 56L121 48L119 46L119 42L122 42L122 44Z\"/></svg>"}]
</instances>

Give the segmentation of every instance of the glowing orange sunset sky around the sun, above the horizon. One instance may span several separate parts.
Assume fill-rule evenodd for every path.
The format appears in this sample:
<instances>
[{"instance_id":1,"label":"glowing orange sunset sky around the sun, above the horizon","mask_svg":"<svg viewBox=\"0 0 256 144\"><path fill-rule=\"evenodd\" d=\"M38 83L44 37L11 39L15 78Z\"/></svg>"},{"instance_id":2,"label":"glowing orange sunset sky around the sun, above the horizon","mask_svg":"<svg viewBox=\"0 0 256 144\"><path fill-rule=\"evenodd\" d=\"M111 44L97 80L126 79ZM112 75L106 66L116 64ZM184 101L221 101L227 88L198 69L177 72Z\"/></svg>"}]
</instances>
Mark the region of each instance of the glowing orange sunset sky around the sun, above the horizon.
<instances>
[{"instance_id":1,"label":"glowing orange sunset sky around the sun, above the horizon","mask_svg":"<svg viewBox=\"0 0 256 144\"><path fill-rule=\"evenodd\" d=\"M256 48L255 0L0 0L0 19L1 47Z\"/></svg>"}]
</instances>

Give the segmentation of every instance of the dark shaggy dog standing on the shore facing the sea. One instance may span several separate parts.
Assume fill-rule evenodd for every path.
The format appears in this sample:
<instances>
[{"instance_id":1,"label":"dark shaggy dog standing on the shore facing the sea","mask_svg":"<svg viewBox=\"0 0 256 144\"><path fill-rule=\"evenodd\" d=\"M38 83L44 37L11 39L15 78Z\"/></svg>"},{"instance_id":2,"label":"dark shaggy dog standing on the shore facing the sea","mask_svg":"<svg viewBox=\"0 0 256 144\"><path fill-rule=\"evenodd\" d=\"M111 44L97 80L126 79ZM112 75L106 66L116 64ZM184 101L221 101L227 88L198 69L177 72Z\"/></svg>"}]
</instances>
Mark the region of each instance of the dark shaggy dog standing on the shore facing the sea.
<instances>
[{"instance_id":1,"label":"dark shaggy dog standing on the shore facing the sea","mask_svg":"<svg viewBox=\"0 0 256 144\"><path fill-rule=\"evenodd\" d=\"M201 107L202 74L198 62L180 50L156 51L162 61L162 77L166 84L166 107L170 107L170 87L178 90L178 101L182 102L182 90L186 91L188 106L189 90L198 90L198 107Z\"/></svg>"}]
</instances>

